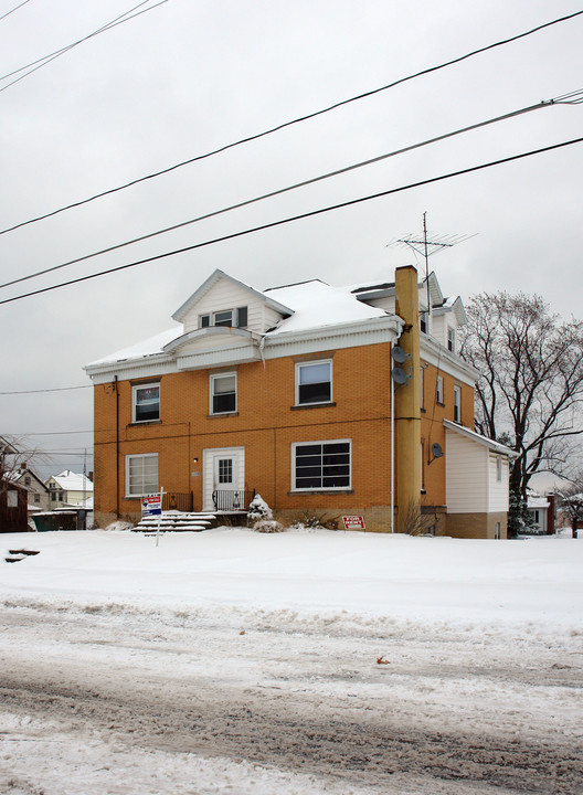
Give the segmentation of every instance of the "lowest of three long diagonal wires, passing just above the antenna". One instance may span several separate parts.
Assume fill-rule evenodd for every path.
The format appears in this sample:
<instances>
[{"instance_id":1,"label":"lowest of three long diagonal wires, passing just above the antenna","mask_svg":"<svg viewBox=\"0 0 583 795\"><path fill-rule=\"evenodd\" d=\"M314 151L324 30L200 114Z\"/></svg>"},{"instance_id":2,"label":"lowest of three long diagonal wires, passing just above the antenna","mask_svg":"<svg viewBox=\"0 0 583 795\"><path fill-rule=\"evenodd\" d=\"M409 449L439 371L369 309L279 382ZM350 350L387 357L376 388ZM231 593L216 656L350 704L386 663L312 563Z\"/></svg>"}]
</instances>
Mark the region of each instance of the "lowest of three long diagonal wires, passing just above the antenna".
<instances>
[{"instance_id":1,"label":"lowest of three long diagonal wires, passing just above the antenna","mask_svg":"<svg viewBox=\"0 0 583 795\"><path fill-rule=\"evenodd\" d=\"M389 190L381 191L379 193L371 193L359 199L351 199L349 201L340 202L338 204L330 204L329 206L320 208L319 210L311 210L310 212L300 213L299 215L292 215L285 219L280 219L279 221L272 221L271 223L261 224L259 226L252 226L240 232L232 232L231 234L222 235L221 237L213 237L209 241L203 241L202 243L194 243L193 245L184 246L182 248L176 248L174 251L165 252L163 254L156 254L155 256L146 257L144 259L137 259L135 262L127 263L126 265L118 265L117 267L107 268L106 271L100 271L96 274L89 274L88 276L81 276L68 282L62 282L61 284L52 285L51 287L43 287L41 289L32 290L31 293L23 293L22 295L13 296L12 298L4 298L3 300L0 300L0 305L11 304L12 301L17 301L22 298L30 298L31 296L40 295L41 293L49 293L54 289L60 289L61 287L67 287L68 285L78 284L81 282L88 282L89 279L97 278L98 276L117 273L118 271L126 271L127 268L136 267L137 265L145 265L146 263L165 259L166 257L176 256L177 254L184 254L187 252L195 251L197 248L203 248L205 246L214 245L215 243L222 243L227 240L243 237L255 232L274 229L275 226L283 226L284 224L288 224L294 221L300 221L303 219L312 218L315 215L321 215L324 213L331 212L332 210L340 210L342 208L352 206L354 204L361 204L362 202L371 201L372 199L380 199L382 197L391 195L393 193L400 193L402 191L411 190L412 188L420 188L421 186L441 182L446 179L452 179L453 177L460 177L462 174L480 171L483 169L491 168L492 166L500 166L502 163L512 162L513 160L521 160L523 158L531 157L532 155L541 155L542 152L561 149L562 147L572 146L573 144L581 144L582 141L583 137L573 138L572 140L562 141L561 144L552 144L551 146L542 147L540 149L532 149L527 152L521 152L520 155L512 155L510 157L501 158L499 160L491 160L487 163L480 163L479 166L470 166L469 168L460 169L458 171L451 171L449 173L441 174L439 177L432 177L430 179L420 180L418 182L411 182L406 186L401 186L400 188L391 188Z\"/></svg>"}]
</instances>

